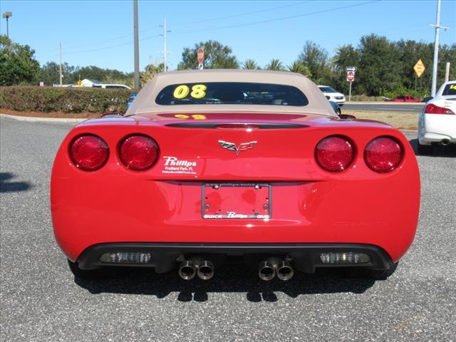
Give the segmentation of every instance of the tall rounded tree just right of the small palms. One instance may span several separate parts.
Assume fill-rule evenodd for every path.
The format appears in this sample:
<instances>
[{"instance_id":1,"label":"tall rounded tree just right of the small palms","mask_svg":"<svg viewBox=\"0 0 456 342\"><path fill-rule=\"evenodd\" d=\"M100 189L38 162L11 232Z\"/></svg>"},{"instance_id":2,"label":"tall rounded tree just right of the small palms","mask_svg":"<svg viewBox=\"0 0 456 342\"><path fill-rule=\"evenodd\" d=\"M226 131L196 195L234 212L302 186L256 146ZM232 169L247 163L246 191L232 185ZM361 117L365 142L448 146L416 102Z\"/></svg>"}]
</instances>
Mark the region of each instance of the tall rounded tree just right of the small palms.
<instances>
[{"instance_id":1,"label":"tall rounded tree just right of the small palms","mask_svg":"<svg viewBox=\"0 0 456 342\"><path fill-rule=\"evenodd\" d=\"M330 78L328 52L313 41L306 41L298 60L309 68L314 82L326 83Z\"/></svg>"}]
</instances>

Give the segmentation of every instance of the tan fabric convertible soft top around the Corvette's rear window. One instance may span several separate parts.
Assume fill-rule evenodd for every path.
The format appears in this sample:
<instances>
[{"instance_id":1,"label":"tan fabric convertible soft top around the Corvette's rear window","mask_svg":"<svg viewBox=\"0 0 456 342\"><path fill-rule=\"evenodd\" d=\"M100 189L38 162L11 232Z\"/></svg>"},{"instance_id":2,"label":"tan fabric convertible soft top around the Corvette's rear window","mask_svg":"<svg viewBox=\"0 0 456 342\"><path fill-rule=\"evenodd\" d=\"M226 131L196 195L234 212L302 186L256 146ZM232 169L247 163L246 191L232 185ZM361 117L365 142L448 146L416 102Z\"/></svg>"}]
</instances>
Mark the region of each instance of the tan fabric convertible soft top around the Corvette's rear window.
<instances>
[{"instance_id":1,"label":"tan fabric convertible soft top around the Corvette's rear window","mask_svg":"<svg viewBox=\"0 0 456 342\"><path fill-rule=\"evenodd\" d=\"M155 103L160 90L170 85L205 82L247 82L271 83L294 86L301 90L309 100L308 105L158 105ZM159 73L138 93L126 115L142 113L204 113L204 112L267 112L267 113L308 113L337 116L316 84L300 75L288 71L263 71L242 69L210 69L191 71L172 71Z\"/></svg>"}]
</instances>

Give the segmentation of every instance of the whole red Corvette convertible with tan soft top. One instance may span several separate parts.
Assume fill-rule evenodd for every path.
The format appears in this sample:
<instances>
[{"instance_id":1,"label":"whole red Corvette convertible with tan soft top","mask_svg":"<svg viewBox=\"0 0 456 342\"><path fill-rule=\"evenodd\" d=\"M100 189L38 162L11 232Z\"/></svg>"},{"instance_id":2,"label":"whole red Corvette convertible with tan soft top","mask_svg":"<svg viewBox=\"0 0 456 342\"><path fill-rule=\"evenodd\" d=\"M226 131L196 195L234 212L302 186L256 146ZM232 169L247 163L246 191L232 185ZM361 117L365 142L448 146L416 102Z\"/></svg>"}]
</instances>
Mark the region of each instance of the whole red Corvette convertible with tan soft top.
<instances>
[{"instance_id":1,"label":"whole red Corvette convertible with tan soft top","mask_svg":"<svg viewBox=\"0 0 456 342\"><path fill-rule=\"evenodd\" d=\"M343 120L295 73L181 71L125 117L87 120L53 165L58 244L76 276L110 266L261 279L356 266L392 274L415 236L420 175L400 131Z\"/></svg>"}]
</instances>

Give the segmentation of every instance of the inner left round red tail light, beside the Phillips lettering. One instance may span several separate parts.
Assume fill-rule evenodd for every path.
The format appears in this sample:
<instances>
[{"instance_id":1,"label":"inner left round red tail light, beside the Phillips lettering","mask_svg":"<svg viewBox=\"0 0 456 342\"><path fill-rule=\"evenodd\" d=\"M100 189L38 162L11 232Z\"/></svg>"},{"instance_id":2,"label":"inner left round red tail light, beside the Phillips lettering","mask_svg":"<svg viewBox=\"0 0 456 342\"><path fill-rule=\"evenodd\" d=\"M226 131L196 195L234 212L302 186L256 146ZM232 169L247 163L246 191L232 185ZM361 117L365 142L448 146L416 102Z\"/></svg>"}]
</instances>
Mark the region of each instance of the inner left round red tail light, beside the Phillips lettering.
<instances>
[{"instance_id":1,"label":"inner left round red tail light, beside the Phillips lettering","mask_svg":"<svg viewBox=\"0 0 456 342\"><path fill-rule=\"evenodd\" d=\"M130 170L143 171L155 164L158 158L158 145L145 135L130 135L120 143L119 157Z\"/></svg>"}]
</instances>

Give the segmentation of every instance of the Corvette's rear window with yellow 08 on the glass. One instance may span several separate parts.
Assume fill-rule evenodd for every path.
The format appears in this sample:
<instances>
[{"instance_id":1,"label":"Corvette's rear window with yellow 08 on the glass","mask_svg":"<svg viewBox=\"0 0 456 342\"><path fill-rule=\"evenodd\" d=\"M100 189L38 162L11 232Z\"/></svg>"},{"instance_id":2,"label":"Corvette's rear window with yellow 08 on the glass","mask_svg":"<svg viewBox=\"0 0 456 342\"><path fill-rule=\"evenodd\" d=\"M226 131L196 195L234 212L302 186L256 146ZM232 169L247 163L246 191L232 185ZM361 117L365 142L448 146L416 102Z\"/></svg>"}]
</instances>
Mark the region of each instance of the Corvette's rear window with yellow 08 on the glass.
<instances>
[{"instance_id":1,"label":"Corvette's rear window with yellow 08 on the glass","mask_svg":"<svg viewBox=\"0 0 456 342\"><path fill-rule=\"evenodd\" d=\"M295 105L309 104L296 87L268 83L182 83L163 88L158 105Z\"/></svg>"}]
</instances>

